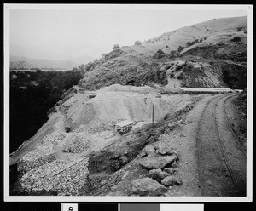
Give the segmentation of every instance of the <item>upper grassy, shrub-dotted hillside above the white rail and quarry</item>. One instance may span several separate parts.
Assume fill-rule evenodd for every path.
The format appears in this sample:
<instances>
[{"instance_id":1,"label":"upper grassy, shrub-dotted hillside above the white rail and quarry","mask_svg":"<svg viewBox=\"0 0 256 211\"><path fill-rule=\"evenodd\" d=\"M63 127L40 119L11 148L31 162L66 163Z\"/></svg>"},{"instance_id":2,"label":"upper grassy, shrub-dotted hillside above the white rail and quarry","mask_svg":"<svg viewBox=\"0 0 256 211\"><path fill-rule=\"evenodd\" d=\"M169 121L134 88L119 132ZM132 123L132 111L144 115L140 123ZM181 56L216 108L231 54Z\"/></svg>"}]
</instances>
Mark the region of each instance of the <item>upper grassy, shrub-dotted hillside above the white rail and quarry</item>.
<instances>
[{"instance_id":1,"label":"upper grassy, shrub-dotted hillside above the white rail and quarry","mask_svg":"<svg viewBox=\"0 0 256 211\"><path fill-rule=\"evenodd\" d=\"M245 72L246 62L247 17L209 20L114 48L79 66L84 72L79 86L95 90L113 83L159 83L169 88L224 88L230 86L223 80L224 68L237 66Z\"/></svg>"}]
</instances>

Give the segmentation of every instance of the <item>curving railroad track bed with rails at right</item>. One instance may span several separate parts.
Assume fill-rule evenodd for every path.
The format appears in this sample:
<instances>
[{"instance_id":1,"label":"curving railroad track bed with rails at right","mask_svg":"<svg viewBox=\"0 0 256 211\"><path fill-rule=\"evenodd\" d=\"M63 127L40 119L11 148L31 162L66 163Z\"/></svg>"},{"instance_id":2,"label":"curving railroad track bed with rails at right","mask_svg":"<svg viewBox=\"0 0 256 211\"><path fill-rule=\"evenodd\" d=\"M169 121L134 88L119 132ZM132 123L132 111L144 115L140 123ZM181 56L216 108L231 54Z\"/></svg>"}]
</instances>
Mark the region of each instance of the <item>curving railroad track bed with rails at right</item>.
<instances>
[{"instance_id":1,"label":"curving railroad track bed with rails at right","mask_svg":"<svg viewBox=\"0 0 256 211\"><path fill-rule=\"evenodd\" d=\"M230 127L224 107L233 95L213 97L201 115L196 153L201 190L206 196L244 196L246 192L246 152Z\"/></svg>"}]
</instances>

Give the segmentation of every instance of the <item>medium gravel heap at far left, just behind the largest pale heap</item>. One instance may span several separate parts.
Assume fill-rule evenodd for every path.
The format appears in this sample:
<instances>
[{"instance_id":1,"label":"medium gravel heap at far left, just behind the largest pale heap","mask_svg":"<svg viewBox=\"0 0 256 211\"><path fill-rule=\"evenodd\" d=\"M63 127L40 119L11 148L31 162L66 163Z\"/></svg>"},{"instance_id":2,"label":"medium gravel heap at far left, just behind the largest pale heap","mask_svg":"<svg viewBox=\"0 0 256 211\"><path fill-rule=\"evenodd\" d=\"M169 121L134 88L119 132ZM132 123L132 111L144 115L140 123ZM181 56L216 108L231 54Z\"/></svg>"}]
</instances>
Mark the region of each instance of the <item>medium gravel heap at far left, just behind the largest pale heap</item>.
<instances>
[{"instance_id":1,"label":"medium gravel heap at far left, just behind the largest pale heap","mask_svg":"<svg viewBox=\"0 0 256 211\"><path fill-rule=\"evenodd\" d=\"M30 151L20 158L20 161L18 162L18 171L20 173L26 173L33 168L38 168L55 159L56 153L51 145L38 146L36 150Z\"/></svg>"}]
</instances>

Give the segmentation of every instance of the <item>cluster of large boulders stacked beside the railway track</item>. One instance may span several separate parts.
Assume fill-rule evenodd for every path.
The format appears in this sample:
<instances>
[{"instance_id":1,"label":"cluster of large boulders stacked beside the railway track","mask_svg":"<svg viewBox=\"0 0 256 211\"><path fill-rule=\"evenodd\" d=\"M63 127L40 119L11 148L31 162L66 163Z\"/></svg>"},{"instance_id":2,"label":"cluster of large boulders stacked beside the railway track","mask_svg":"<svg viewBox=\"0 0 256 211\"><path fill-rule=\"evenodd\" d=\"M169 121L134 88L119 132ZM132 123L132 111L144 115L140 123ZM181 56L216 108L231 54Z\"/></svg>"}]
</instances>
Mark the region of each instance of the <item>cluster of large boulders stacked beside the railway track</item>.
<instances>
[{"instance_id":1,"label":"cluster of large boulders stacked beside the railway track","mask_svg":"<svg viewBox=\"0 0 256 211\"><path fill-rule=\"evenodd\" d=\"M132 182L132 192L140 196L160 196L166 192L163 187L182 185L177 174L178 154L170 145L147 145L140 152L139 164L149 170L148 176Z\"/></svg>"}]
</instances>

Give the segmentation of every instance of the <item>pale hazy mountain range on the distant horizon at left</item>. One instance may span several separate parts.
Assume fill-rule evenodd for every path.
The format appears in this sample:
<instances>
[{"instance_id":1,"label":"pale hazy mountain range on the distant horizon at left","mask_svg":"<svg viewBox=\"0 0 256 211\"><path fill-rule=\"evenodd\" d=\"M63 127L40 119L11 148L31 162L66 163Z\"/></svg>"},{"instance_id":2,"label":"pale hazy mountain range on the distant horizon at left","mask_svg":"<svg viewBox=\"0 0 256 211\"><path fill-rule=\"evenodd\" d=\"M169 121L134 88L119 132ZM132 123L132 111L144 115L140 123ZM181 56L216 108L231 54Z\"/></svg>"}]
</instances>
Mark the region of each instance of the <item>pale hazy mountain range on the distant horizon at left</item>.
<instances>
[{"instance_id":1,"label":"pale hazy mountain range on the distant horizon at left","mask_svg":"<svg viewBox=\"0 0 256 211\"><path fill-rule=\"evenodd\" d=\"M95 60L91 56L83 56L74 58L73 60L40 60L28 57L10 56L10 70L19 69L54 69L54 70L70 70L73 67L87 64Z\"/></svg>"}]
</instances>

